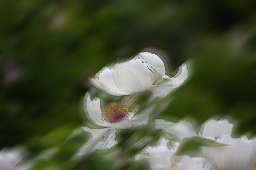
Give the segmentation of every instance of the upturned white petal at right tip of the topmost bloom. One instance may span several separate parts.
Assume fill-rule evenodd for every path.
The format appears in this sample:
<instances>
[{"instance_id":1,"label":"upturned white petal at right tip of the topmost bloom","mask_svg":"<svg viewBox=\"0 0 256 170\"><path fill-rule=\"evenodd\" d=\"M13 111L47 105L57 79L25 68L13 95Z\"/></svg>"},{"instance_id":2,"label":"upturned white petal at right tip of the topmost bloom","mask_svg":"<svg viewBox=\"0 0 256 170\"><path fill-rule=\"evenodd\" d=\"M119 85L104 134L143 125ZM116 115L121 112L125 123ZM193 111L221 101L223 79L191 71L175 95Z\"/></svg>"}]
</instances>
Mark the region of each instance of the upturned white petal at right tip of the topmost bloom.
<instances>
[{"instance_id":1,"label":"upturned white petal at right tip of the topmost bloom","mask_svg":"<svg viewBox=\"0 0 256 170\"><path fill-rule=\"evenodd\" d=\"M178 73L176 74L176 76L174 76L173 78L171 78L172 83L173 83L173 87L177 88L178 86L180 86L186 79L188 78L188 69L187 69L187 65L186 64L182 64L179 67Z\"/></svg>"}]
</instances>

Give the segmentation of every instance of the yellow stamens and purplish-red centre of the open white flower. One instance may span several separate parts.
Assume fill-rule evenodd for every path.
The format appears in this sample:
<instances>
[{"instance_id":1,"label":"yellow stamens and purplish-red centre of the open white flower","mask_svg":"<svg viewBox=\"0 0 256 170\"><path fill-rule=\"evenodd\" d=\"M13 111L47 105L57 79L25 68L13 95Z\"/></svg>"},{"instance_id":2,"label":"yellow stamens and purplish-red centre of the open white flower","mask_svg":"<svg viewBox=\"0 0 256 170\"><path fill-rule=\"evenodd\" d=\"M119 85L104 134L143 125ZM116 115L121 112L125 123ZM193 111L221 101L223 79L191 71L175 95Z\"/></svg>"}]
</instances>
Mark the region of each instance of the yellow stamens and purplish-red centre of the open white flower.
<instances>
[{"instance_id":1,"label":"yellow stamens and purplish-red centre of the open white flower","mask_svg":"<svg viewBox=\"0 0 256 170\"><path fill-rule=\"evenodd\" d=\"M109 123L116 123L124 117L126 117L129 113L129 109L122 104L110 104L101 111L101 117L104 121Z\"/></svg>"}]
</instances>

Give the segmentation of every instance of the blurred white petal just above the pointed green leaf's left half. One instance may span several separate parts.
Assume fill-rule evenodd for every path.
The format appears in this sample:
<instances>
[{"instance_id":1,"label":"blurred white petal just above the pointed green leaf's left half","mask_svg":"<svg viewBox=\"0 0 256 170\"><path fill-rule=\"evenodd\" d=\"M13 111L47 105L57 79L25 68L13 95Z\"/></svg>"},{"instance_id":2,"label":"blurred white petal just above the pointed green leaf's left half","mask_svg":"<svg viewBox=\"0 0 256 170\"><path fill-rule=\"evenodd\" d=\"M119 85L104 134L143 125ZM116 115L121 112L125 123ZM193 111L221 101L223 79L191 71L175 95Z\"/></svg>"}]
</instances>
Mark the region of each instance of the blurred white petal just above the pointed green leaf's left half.
<instances>
[{"instance_id":1,"label":"blurred white petal just above the pointed green leaf's left half","mask_svg":"<svg viewBox=\"0 0 256 170\"><path fill-rule=\"evenodd\" d=\"M173 127L166 128L165 131L174 134L180 140L198 136L192 125L185 120L179 121Z\"/></svg>"}]
</instances>

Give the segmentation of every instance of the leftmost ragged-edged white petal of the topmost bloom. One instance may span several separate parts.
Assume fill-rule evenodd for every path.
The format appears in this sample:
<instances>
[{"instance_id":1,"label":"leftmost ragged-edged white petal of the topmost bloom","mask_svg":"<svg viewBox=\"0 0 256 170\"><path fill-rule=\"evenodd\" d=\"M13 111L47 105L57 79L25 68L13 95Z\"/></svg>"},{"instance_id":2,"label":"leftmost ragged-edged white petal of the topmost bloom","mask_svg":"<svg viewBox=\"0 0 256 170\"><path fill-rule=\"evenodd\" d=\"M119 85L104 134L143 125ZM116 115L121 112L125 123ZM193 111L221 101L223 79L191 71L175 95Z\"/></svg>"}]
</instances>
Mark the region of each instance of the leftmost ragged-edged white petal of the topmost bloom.
<instances>
[{"instance_id":1,"label":"leftmost ragged-edged white petal of the topmost bloom","mask_svg":"<svg viewBox=\"0 0 256 170\"><path fill-rule=\"evenodd\" d=\"M105 90L107 93L115 96L130 94L130 93L124 92L123 90L117 87L117 85L113 80L111 70L108 67L106 67L105 70L102 70L101 73L96 74L94 78L91 78L90 82L95 87Z\"/></svg>"}]
</instances>

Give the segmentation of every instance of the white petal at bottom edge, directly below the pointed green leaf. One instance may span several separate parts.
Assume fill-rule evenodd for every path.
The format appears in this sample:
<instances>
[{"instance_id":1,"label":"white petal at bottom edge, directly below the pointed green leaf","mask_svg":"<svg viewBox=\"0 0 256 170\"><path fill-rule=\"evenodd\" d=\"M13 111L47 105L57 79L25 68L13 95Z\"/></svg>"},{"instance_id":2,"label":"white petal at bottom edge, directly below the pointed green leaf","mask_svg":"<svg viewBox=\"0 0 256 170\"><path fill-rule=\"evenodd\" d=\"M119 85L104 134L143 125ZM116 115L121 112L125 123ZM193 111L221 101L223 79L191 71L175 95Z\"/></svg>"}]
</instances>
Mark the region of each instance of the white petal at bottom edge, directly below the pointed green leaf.
<instances>
[{"instance_id":1,"label":"white petal at bottom edge, directly below the pointed green leaf","mask_svg":"<svg viewBox=\"0 0 256 170\"><path fill-rule=\"evenodd\" d=\"M211 164L205 158L185 155L174 167L175 170L210 170Z\"/></svg>"}]
</instances>

